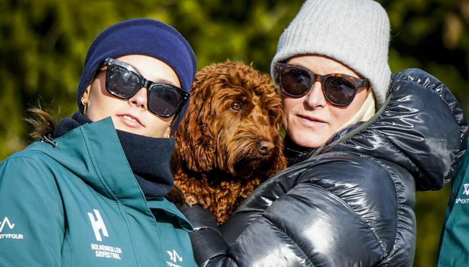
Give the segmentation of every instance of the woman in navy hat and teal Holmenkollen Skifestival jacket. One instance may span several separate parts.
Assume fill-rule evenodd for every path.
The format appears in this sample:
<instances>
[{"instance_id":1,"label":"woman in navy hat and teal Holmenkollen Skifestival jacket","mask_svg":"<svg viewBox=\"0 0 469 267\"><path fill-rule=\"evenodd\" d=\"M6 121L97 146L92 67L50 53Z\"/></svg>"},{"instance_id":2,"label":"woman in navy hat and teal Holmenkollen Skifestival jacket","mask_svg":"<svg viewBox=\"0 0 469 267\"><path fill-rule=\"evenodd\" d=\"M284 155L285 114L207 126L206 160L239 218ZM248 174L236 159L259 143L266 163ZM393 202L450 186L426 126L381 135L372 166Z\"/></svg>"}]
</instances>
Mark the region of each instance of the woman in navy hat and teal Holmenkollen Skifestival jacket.
<instances>
[{"instance_id":1,"label":"woman in navy hat and teal Holmenkollen Skifestival jacket","mask_svg":"<svg viewBox=\"0 0 469 267\"><path fill-rule=\"evenodd\" d=\"M49 127L0 164L0 265L195 266L192 226L165 198L195 72L165 23L104 30L86 55L80 112L52 129L36 111Z\"/></svg>"}]
</instances>

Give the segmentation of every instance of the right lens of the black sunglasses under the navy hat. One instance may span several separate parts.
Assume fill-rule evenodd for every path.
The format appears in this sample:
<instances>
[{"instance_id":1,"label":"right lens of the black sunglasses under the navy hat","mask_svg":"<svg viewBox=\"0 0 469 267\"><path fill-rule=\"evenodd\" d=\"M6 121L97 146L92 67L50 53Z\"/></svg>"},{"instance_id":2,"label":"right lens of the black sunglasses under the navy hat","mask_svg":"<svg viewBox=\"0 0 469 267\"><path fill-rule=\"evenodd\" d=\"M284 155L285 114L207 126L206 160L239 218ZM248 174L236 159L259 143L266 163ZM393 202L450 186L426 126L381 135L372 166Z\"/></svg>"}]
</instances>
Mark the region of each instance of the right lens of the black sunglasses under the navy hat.
<instances>
[{"instance_id":1,"label":"right lens of the black sunglasses under the navy hat","mask_svg":"<svg viewBox=\"0 0 469 267\"><path fill-rule=\"evenodd\" d=\"M155 85L151 88L148 107L160 116L170 116L178 108L182 96L175 90Z\"/></svg>"}]
</instances>

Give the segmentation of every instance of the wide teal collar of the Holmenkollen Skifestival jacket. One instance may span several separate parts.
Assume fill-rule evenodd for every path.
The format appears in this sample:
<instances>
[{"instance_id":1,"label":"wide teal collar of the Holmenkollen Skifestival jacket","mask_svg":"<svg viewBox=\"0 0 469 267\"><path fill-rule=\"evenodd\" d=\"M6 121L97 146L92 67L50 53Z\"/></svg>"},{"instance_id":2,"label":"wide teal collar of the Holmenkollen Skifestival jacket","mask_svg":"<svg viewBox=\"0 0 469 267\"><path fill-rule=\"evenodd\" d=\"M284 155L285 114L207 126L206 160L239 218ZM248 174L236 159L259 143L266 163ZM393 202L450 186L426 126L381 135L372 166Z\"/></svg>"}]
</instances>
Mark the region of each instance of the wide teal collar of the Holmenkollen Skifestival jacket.
<instances>
[{"instance_id":1,"label":"wide teal collar of the Holmenkollen Skifestival jacket","mask_svg":"<svg viewBox=\"0 0 469 267\"><path fill-rule=\"evenodd\" d=\"M164 197L145 200L110 117L79 126L54 142L57 146L52 147L36 141L30 149L46 153L99 194L144 213L149 208L164 210L176 216L182 228L192 230L184 215Z\"/></svg>"}]
</instances>

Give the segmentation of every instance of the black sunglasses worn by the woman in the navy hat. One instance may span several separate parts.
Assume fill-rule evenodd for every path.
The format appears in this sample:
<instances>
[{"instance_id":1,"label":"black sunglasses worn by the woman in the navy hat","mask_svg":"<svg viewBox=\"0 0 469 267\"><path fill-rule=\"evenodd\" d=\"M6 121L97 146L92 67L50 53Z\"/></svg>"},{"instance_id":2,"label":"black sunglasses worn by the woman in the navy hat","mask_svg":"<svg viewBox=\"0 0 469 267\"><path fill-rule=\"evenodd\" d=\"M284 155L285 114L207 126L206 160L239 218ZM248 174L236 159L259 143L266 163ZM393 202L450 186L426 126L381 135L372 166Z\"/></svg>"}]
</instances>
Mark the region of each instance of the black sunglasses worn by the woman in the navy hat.
<instances>
[{"instance_id":1,"label":"black sunglasses worn by the woman in the navy hat","mask_svg":"<svg viewBox=\"0 0 469 267\"><path fill-rule=\"evenodd\" d=\"M100 68L106 66L106 90L109 94L129 99L142 87L147 88L147 106L150 112L168 118L189 99L181 88L166 82L150 81L132 66L108 57Z\"/></svg>"}]
</instances>

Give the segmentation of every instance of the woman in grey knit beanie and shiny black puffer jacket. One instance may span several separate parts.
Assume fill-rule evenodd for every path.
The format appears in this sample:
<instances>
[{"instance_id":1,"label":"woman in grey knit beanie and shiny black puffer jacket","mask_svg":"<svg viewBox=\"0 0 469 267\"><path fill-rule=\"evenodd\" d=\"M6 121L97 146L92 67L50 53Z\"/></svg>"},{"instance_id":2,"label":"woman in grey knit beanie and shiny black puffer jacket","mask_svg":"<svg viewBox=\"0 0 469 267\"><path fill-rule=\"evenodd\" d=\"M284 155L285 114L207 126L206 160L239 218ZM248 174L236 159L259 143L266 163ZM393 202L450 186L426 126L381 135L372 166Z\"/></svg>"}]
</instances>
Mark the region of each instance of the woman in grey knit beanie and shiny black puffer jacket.
<instances>
[{"instance_id":1,"label":"woman in grey knit beanie and shiny black puffer jacket","mask_svg":"<svg viewBox=\"0 0 469 267\"><path fill-rule=\"evenodd\" d=\"M200 266L412 266L415 190L437 190L467 124L421 70L391 77L389 19L372 0L308 0L279 39L290 166L220 228L181 210Z\"/></svg>"}]
</instances>

